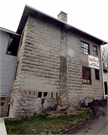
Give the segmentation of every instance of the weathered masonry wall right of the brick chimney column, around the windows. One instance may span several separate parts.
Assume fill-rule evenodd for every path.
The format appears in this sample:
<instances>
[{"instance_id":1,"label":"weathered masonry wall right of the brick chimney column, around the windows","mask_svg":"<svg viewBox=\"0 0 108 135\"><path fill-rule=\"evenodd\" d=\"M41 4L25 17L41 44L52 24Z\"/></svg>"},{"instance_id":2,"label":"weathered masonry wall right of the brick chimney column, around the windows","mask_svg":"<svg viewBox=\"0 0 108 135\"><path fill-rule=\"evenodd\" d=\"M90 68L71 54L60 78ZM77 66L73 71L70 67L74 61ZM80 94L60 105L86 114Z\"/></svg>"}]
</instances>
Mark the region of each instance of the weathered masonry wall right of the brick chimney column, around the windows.
<instances>
[{"instance_id":1,"label":"weathered masonry wall right of the brick chimney column, around the windows","mask_svg":"<svg viewBox=\"0 0 108 135\"><path fill-rule=\"evenodd\" d=\"M88 55L81 53L81 41L89 43L90 55L99 58L99 77L95 79L95 69L91 68L91 84L82 83L82 66L89 67ZM103 98L102 68L99 44L77 34L68 34L68 47L75 53L68 57L68 96L69 106L78 106L83 97L91 102L94 99ZM93 45L98 48L98 55L93 54Z\"/></svg>"}]
</instances>

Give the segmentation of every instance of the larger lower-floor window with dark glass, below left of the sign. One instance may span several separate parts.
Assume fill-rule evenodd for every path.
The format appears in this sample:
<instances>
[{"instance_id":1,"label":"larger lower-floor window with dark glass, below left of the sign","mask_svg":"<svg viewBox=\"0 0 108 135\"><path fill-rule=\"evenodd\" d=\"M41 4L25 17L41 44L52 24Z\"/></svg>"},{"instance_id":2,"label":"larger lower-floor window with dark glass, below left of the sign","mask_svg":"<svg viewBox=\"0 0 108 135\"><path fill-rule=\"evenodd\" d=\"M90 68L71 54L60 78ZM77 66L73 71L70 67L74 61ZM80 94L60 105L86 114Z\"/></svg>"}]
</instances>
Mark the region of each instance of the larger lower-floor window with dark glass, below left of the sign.
<instances>
[{"instance_id":1,"label":"larger lower-floor window with dark glass, below left of the sign","mask_svg":"<svg viewBox=\"0 0 108 135\"><path fill-rule=\"evenodd\" d=\"M91 69L87 67L82 67L82 82L86 84L91 84Z\"/></svg>"}]
</instances>

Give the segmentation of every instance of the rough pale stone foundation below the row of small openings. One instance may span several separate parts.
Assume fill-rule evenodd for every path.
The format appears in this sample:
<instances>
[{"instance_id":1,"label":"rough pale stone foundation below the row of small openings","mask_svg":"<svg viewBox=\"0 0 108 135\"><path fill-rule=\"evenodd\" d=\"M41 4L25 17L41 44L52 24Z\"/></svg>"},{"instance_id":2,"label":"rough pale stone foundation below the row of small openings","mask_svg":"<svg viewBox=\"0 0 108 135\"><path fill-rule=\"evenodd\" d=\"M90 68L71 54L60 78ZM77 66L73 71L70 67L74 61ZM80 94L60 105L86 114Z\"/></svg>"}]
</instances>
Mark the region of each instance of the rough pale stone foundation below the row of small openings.
<instances>
[{"instance_id":1,"label":"rough pale stone foundation below the row of small openings","mask_svg":"<svg viewBox=\"0 0 108 135\"><path fill-rule=\"evenodd\" d=\"M57 105L57 98L38 98L28 97L21 93L15 93L14 101L11 104L10 117L33 115L33 113L41 113L49 107Z\"/></svg>"}]
</instances>

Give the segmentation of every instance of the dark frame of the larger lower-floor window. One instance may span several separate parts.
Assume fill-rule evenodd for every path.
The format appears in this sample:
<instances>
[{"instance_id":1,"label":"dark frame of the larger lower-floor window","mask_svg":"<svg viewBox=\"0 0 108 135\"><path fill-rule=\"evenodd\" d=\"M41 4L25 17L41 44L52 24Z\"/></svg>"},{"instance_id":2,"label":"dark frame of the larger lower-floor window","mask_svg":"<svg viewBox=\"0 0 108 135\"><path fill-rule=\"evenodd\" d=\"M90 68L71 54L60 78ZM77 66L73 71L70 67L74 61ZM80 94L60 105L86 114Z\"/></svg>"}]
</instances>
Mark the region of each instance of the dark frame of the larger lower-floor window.
<instances>
[{"instance_id":1,"label":"dark frame of the larger lower-floor window","mask_svg":"<svg viewBox=\"0 0 108 135\"><path fill-rule=\"evenodd\" d=\"M86 74L85 72L83 72L84 68L86 70L89 70L89 75ZM86 77L89 78L89 80L85 79ZM92 78L92 76L91 76L91 68L82 66L82 83L91 85L92 84L91 78ZM83 79L86 80L86 81L90 81L90 82L84 82Z\"/></svg>"}]
</instances>

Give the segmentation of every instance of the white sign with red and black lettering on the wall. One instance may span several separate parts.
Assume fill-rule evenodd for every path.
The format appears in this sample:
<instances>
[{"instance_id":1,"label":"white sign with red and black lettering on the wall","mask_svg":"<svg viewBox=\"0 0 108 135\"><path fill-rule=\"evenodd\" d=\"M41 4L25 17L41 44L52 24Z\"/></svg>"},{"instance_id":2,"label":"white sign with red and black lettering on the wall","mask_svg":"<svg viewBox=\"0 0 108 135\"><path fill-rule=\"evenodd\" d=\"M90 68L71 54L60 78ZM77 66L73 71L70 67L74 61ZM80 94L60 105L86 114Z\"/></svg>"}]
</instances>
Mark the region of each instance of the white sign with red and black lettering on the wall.
<instances>
[{"instance_id":1,"label":"white sign with red and black lettering on the wall","mask_svg":"<svg viewBox=\"0 0 108 135\"><path fill-rule=\"evenodd\" d=\"M97 57L88 55L89 67L99 69L99 59Z\"/></svg>"}]
</instances>

